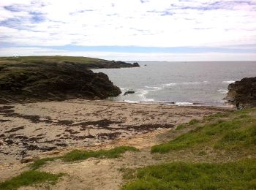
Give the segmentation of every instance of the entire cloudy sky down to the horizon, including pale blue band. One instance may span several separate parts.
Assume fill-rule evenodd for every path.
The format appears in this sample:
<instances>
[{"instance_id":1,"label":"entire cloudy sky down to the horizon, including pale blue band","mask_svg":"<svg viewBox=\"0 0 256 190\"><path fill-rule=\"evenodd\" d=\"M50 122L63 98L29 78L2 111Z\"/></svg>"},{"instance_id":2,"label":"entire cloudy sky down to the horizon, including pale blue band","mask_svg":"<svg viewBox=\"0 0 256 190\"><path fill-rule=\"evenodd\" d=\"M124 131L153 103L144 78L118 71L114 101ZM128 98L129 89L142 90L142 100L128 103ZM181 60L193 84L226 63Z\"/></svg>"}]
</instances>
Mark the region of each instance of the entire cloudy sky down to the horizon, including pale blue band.
<instances>
[{"instance_id":1,"label":"entire cloudy sky down to the horizon, including pale blue band","mask_svg":"<svg viewBox=\"0 0 256 190\"><path fill-rule=\"evenodd\" d=\"M0 0L0 56L255 61L256 0Z\"/></svg>"}]
</instances>

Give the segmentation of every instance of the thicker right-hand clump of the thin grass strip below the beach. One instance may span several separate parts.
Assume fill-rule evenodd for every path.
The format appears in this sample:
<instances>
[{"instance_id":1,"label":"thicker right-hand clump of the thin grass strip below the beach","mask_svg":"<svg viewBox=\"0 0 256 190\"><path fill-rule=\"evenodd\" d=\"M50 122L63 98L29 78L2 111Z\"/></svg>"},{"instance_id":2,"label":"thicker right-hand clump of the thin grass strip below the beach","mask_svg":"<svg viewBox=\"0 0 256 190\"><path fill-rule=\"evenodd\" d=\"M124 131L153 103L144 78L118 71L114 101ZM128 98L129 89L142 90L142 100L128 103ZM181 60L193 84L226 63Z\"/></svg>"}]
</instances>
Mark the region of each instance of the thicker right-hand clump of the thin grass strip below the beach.
<instances>
[{"instance_id":1,"label":"thicker right-hand clump of the thin grass strip below the beach","mask_svg":"<svg viewBox=\"0 0 256 190\"><path fill-rule=\"evenodd\" d=\"M79 160L89 159L91 157L94 157L94 158L103 157L103 158L113 159L113 158L120 157L121 153L125 153L126 151L138 151L138 149L131 146L119 146L119 147L110 149L108 151L74 150L64 154L64 156L61 156L61 160L62 161L79 161Z\"/></svg>"}]
</instances>

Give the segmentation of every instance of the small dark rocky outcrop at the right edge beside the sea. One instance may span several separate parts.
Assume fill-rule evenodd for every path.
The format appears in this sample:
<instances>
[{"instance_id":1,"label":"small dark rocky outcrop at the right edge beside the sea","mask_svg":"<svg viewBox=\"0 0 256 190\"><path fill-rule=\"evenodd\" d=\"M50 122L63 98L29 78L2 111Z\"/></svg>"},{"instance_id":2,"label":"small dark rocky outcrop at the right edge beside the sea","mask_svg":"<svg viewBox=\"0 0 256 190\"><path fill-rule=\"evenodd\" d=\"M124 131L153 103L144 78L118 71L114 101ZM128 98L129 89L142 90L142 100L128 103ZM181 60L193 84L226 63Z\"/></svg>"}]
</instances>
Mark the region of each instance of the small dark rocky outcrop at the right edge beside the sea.
<instances>
[{"instance_id":1,"label":"small dark rocky outcrop at the right edge beside the sea","mask_svg":"<svg viewBox=\"0 0 256 190\"><path fill-rule=\"evenodd\" d=\"M231 104L243 105L244 107L256 106L256 77L243 78L228 86L225 99Z\"/></svg>"}]
</instances>

